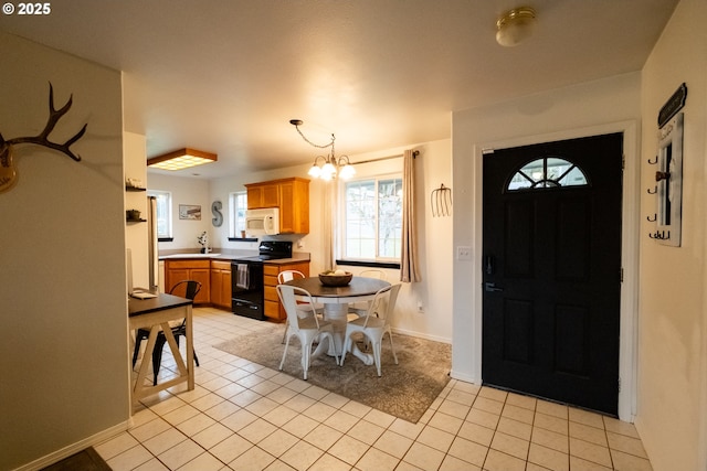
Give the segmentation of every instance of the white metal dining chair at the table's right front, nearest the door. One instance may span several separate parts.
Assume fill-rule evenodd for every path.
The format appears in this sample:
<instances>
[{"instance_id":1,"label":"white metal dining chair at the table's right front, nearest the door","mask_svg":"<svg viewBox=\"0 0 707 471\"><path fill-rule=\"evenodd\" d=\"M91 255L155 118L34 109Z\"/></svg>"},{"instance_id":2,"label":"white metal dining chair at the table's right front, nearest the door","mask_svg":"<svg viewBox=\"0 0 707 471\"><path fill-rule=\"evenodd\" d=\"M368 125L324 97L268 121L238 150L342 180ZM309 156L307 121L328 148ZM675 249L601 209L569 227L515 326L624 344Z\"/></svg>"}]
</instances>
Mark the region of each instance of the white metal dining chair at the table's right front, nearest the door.
<instances>
[{"instance_id":1,"label":"white metal dining chair at the table's right front, nearest the door","mask_svg":"<svg viewBox=\"0 0 707 471\"><path fill-rule=\"evenodd\" d=\"M372 346L373 363L376 364L378 376L381 375L381 343L386 333L388 333L388 338L390 339L390 350L393 353L393 360L395 361L395 364L398 364L398 355L395 354L395 347L393 346L393 333L389 321L393 309L395 308L399 291L400 283L382 288L376 293L366 315L347 322L346 333L344 334L344 351L341 352L341 361L339 362L339 365L344 365L346 352L351 351L352 347L354 340L351 336L357 333L363 334L365 339Z\"/></svg>"}]
</instances>

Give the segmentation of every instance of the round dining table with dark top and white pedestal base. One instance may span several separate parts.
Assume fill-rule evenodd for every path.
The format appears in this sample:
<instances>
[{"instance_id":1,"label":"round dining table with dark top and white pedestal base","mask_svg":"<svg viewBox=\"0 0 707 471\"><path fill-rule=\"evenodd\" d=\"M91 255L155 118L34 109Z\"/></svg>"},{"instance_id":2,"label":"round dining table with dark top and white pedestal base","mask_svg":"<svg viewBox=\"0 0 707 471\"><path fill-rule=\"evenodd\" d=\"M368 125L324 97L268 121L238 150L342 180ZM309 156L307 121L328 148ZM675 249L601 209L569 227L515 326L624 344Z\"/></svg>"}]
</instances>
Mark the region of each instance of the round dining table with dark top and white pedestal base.
<instances>
[{"instance_id":1,"label":"round dining table with dark top and white pedestal base","mask_svg":"<svg viewBox=\"0 0 707 471\"><path fill-rule=\"evenodd\" d=\"M334 330L334 345L330 345L328 354L341 356L344 351L344 336L350 302L372 300L376 293L389 287L388 281L378 278L357 277L351 278L347 286L324 286L319 277L298 278L287 281L285 285L303 288L312 295L315 303L324 304L324 319L331 322ZM356 344L351 353L367 365L373 364L373 355L361 352Z\"/></svg>"}]
</instances>

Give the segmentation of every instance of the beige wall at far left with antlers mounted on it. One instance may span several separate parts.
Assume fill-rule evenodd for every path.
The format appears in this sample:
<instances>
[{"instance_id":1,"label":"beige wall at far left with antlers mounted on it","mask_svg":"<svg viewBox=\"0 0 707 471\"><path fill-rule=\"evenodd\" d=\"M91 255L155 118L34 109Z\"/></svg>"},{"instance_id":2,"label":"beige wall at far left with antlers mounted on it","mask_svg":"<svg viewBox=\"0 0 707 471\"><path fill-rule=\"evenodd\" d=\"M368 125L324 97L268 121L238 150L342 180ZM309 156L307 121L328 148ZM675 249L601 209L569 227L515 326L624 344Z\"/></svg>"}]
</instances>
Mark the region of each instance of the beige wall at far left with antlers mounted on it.
<instances>
[{"instance_id":1,"label":"beige wall at far left with antlers mounted on it","mask_svg":"<svg viewBox=\"0 0 707 471\"><path fill-rule=\"evenodd\" d=\"M129 365L120 74L0 33L0 131L39 133L49 84L71 110L51 138L88 124L68 157L18 147L0 194L0 469L48 464L125 429ZM74 450L72 450L74 447Z\"/></svg>"}]
</instances>

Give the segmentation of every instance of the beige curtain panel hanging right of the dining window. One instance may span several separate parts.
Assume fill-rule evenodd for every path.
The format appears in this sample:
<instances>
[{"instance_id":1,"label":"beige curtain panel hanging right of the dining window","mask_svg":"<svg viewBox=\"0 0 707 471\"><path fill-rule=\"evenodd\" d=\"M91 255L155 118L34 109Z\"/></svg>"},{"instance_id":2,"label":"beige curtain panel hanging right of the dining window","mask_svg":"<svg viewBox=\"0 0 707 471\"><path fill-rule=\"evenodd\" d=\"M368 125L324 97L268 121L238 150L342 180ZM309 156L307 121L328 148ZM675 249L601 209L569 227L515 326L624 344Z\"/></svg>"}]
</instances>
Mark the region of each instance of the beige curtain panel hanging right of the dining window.
<instances>
[{"instance_id":1,"label":"beige curtain panel hanging right of the dining window","mask_svg":"<svg viewBox=\"0 0 707 471\"><path fill-rule=\"evenodd\" d=\"M400 281L421 281L418 267L418 235L415 231L415 159L412 150L403 154L402 175L402 254Z\"/></svg>"}]
</instances>

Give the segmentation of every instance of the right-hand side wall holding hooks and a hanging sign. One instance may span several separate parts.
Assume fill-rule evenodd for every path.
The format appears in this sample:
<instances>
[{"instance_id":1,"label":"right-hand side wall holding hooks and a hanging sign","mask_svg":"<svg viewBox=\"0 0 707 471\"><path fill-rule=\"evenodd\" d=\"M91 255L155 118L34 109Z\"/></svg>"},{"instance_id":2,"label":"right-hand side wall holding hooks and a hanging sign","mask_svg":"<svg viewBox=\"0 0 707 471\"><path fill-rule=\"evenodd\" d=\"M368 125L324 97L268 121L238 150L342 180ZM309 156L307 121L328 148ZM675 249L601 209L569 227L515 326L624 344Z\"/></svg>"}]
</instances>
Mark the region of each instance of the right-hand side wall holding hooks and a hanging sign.
<instances>
[{"instance_id":1,"label":"right-hand side wall holding hooks and a hanging sign","mask_svg":"<svg viewBox=\"0 0 707 471\"><path fill-rule=\"evenodd\" d=\"M706 470L707 3L677 6L643 71L641 329L636 426L653 469ZM683 244L650 239L658 110L685 82Z\"/></svg>"}]
</instances>

